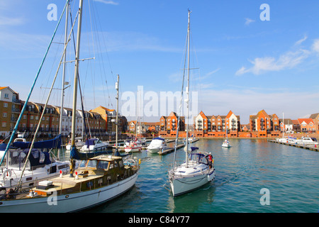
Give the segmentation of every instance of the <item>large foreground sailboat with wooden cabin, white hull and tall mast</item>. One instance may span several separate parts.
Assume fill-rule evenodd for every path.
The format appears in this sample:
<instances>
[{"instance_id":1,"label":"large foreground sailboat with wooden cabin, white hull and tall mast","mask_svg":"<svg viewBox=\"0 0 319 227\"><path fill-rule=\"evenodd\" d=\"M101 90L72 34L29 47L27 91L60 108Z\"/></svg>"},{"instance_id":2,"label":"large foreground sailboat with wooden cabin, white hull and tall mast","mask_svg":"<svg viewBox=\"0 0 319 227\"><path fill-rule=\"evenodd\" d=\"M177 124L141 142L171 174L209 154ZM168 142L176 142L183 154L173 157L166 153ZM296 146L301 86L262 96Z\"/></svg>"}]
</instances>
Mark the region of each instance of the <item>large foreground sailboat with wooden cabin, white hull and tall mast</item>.
<instances>
[{"instance_id":1,"label":"large foreground sailboat with wooden cabin, white hull and tall mast","mask_svg":"<svg viewBox=\"0 0 319 227\"><path fill-rule=\"evenodd\" d=\"M69 0L67 0L68 3ZM59 177L38 182L38 185L29 192L22 191L19 186L4 192L0 196L1 213L61 213L88 209L127 192L138 178L140 161L137 158L118 156L116 153L83 158L79 166L77 168L75 166L76 159L83 157L74 144L82 5L83 0L79 0L70 175L61 174ZM116 119L118 120L118 117Z\"/></svg>"}]
</instances>

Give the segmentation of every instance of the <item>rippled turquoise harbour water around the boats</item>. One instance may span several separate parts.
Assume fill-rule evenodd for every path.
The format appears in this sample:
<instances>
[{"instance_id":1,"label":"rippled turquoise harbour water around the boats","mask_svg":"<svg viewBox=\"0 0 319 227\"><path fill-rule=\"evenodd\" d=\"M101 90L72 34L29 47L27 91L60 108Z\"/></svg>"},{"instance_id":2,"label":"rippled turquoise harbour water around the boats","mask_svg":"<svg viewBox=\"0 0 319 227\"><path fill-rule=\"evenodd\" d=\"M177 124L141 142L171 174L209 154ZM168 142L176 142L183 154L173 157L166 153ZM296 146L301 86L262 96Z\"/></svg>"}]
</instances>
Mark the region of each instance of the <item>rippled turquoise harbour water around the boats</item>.
<instances>
[{"instance_id":1,"label":"rippled turquoise harbour water around the boats","mask_svg":"<svg viewBox=\"0 0 319 227\"><path fill-rule=\"evenodd\" d=\"M134 155L142 159L133 189L86 212L99 213L316 213L319 211L319 153L266 139L201 139L192 146L213 154L216 179L173 197L167 172L174 153ZM169 143L170 146L174 145ZM177 160L184 160L184 150ZM268 189L263 194L261 189ZM261 203L267 195L269 205Z\"/></svg>"}]
</instances>

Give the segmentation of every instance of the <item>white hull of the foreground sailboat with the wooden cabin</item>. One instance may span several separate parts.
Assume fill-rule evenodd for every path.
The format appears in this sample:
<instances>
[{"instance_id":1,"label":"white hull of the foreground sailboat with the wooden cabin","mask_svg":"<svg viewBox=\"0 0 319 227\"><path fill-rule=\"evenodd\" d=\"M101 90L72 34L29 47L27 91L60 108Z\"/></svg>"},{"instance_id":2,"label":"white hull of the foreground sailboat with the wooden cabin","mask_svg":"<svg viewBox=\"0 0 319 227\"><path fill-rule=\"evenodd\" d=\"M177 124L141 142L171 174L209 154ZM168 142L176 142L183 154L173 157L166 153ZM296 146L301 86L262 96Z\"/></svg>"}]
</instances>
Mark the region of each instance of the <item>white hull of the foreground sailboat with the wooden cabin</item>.
<instances>
[{"instance_id":1,"label":"white hull of the foreground sailboat with the wooden cabin","mask_svg":"<svg viewBox=\"0 0 319 227\"><path fill-rule=\"evenodd\" d=\"M0 213L66 213L88 209L120 196L134 186L136 179L138 179L138 172L123 181L86 192L56 197L3 200Z\"/></svg>"}]
</instances>

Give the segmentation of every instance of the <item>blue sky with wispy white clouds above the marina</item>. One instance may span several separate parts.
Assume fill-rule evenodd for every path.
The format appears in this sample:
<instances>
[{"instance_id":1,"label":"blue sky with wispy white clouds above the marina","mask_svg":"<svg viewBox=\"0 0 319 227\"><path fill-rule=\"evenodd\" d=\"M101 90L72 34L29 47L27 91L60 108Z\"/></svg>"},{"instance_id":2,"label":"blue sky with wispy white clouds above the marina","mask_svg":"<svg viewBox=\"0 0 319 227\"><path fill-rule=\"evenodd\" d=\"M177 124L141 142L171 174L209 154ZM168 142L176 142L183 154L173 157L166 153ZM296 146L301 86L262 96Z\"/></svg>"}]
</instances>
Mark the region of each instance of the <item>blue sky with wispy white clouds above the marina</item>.
<instances>
[{"instance_id":1,"label":"blue sky with wispy white clouds above the marina","mask_svg":"<svg viewBox=\"0 0 319 227\"><path fill-rule=\"evenodd\" d=\"M1 87L11 87L22 100L30 92L64 6L62 0L0 2ZM71 1L73 21L78 7L78 1ZM249 116L262 109L291 119L319 112L315 0L84 0L80 59L94 57L79 63L84 109L115 109L119 74L119 112L128 120L135 120L137 112L142 121L179 113L179 99L173 105L169 102L181 92L188 9L191 114L217 116L231 110L241 123L248 123ZM64 33L65 16L30 101L45 103ZM69 61L74 60L73 42L67 48ZM62 67L57 74L49 104L60 106ZM69 107L73 78L74 62L67 62Z\"/></svg>"}]
</instances>

